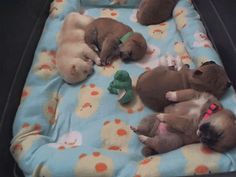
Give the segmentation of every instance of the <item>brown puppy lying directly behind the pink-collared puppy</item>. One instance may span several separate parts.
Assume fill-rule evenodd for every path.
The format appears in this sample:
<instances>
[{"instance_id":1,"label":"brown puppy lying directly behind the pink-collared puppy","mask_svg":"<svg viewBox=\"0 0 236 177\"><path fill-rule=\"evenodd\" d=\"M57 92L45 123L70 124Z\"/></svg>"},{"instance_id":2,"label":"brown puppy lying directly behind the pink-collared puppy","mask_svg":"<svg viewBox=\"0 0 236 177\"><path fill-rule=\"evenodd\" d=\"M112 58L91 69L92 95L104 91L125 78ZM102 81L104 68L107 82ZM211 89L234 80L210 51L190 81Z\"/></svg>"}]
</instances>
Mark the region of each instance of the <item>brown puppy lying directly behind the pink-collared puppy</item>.
<instances>
[{"instance_id":1,"label":"brown puppy lying directly behind the pink-collared puppy","mask_svg":"<svg viewBox=\"0 0 236 177\"><path fill-rule=\"evenodd\" d=\"M136 90L146 106L160 112L171 103L165 98L168 91L192 88L220 98L230 85L223 67L211 61L196 70L186 65L179 71L173 67L156 67L139 76Z\"/></svg>"}]
</instances>

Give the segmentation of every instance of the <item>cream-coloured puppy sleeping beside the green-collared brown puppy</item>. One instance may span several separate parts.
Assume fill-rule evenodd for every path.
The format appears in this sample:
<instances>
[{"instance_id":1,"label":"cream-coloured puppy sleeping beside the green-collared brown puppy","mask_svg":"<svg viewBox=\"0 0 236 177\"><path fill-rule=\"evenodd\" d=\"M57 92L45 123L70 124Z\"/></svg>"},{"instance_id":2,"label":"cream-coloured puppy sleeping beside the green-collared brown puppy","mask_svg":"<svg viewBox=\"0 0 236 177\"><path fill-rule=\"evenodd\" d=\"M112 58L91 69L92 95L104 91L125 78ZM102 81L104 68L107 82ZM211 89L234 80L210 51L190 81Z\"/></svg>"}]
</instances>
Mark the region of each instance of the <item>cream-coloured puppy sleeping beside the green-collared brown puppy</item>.
<instances>
[{"instance_id":1,"label":"cream-coloured puppy sleeping beside the green-collared brown puppy","mask_svg":"<svg viewBox=\"0 0 236 177\"><path fill-rule=\"evenodd\" d=\"M79 13L70 13L57 38L56 67L65 80L75 84L93 72L93 61L100 65L100 58L84 41L84 29L94 19Z\"/></svg>"}]
</instances>

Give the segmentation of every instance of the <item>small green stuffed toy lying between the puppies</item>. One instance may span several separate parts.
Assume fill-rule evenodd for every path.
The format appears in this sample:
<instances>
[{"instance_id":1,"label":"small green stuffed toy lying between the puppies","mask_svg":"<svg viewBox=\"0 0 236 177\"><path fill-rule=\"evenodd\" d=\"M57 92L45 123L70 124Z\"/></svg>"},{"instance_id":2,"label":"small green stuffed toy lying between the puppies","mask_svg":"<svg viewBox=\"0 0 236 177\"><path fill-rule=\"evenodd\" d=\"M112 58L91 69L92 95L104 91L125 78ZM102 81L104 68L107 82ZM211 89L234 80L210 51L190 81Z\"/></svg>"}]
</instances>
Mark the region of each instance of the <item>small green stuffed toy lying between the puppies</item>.
<instances>
[{"instance_id":1,"label":"small green stuffed toy lying between the puppies","mask_svg":"<svg viewBox=\"0 0 236 177\"><path fill-rule=\"evenodd\" d=\"M134 99L132 80L127 71L117 71L114 80L108 87L108 90L110 93L118 95L118 100L121 104L129 103Z\"/></svg>"}]
</instances>

